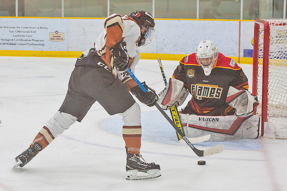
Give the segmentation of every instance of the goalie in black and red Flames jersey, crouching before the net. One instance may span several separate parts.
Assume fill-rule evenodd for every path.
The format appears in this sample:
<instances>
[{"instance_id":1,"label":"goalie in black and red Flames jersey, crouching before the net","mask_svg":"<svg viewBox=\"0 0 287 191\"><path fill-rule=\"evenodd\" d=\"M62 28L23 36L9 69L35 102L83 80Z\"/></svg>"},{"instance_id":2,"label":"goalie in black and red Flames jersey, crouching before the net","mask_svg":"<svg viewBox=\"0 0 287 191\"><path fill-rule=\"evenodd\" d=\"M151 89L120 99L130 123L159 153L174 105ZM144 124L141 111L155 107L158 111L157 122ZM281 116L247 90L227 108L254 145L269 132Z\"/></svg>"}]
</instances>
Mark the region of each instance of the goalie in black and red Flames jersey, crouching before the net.
<instances>
[{"instance_id":1,"label":"goalie in black and red Flames jersey, crouching before the net","mask_svg":"<svg viewBox=\"0 0 287 191\"><path fill-rule=\"evenodd\" d=\"M196 53L179 62L167 86L158 95L165 110L183 104L180 112L188 138L211 134L209 141L257 138L259 116L252 115L257 98L248 92L248 79L236 62L210 41L199 43Z\"/></svg>"}]
</instances>

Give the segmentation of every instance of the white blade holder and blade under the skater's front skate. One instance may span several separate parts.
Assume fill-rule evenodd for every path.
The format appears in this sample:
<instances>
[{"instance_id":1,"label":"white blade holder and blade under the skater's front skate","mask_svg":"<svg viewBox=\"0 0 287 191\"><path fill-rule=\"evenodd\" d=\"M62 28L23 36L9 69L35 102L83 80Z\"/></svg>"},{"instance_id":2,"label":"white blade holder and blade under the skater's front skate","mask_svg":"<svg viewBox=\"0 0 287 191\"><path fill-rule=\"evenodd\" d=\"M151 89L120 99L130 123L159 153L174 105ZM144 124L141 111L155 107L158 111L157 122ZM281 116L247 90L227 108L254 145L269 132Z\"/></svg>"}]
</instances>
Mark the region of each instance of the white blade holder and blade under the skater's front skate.
<instances>
[{"instance_id":1,"label":"white blade holder and blade under the skater's front skate","mask_svg":"<svg viewBox=\"0 0 287 191\"><path fill-rule=\"evenodd\" d=\"M138 170L128 170L127 180L145 180L151 178L158 178L161 176L161 171L158 169L148 170L145 172L138 172Z\"/></svg>"}]
</instances>

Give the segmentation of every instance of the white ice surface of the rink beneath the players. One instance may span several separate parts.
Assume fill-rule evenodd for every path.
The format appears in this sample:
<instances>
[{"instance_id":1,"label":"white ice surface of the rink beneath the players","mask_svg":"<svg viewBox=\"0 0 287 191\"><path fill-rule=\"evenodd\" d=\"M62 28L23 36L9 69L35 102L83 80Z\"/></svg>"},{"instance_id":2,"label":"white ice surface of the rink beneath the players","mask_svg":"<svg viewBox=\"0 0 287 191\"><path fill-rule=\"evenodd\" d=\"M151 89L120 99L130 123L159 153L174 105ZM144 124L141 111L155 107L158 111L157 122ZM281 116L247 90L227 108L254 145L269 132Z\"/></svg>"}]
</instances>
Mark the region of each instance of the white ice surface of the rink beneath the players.
<instances>
[{"instance_id":1,"label":"white ice surface of the rink beneath the players","mask_svg":"<svg viewBox=\"0 0 287 191\"><path fill-rule=\"evenodd\" d=\"M141 154L146 162L160 164L161 177L125 179L121 116L110 116L97 102L81 123L60 134L24 167L12 169L14 158L61 106L75 61L0 56L0 191L287 190L287 140L259 137L197 143L194 146L200 150L224 146L222 153L198 157L177 141L175 130L155 107L141 103ZM169 78L178 61L162 64ZM240 66L251 85L252 66ZM157 93L164 88L156 60L140 60L135 76ZM198 165L199 160L206 164Z\"/></svg>"}]
</instances>

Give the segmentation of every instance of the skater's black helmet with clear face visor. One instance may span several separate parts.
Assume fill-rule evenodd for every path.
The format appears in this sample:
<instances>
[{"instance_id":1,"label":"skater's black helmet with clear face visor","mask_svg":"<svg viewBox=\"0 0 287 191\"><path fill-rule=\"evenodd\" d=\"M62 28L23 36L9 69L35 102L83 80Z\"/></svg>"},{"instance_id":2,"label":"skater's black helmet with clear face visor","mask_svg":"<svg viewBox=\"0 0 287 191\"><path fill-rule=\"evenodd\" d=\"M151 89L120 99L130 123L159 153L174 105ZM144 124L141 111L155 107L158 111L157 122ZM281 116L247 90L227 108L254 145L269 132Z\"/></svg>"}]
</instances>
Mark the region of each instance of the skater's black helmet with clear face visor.
<instances>
[{"instance_id":1,"label":"skater's black helmet with clear face visor","mask_svg":"<svg viewBox=\"0 0 287 191\"><path fill-rule=\"evenodd\" d=\"M147 11L134 11L130 16L138 23L141 28L141 38L138 46L146 46L151 43L155 33L155 21Z\"/></svg>"}]
</instances>

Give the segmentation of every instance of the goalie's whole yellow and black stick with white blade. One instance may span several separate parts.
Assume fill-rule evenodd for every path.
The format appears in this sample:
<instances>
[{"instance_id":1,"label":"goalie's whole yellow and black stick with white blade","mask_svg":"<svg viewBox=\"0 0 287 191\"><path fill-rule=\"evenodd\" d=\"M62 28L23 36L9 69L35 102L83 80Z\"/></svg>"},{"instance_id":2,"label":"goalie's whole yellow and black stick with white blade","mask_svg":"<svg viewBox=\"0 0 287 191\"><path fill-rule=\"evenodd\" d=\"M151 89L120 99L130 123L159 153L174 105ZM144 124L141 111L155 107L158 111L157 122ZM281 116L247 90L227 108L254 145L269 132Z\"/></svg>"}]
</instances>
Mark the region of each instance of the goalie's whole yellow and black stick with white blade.
<instances>
[{"instance_id":1,"label":"goalie's whole yellow and black stick with white blade","mask_svg":"<svg viewBox=\"0 0 287 191\"><path fill-rule=\"evenodd\" d=\"M167 85L167 78L165 77L165 74L164 74L164 68L162 67L162 64L161 64L161 58L158 58L158 64L161 69L161 75L162 75L162 78L164 79L164 84ZM170 108L170 115L172 116L172 120L174 124L185 135L176 105ZM178 141L183 143L184 141L182 140L182 137L178 133L176 133L176 135L177 135ZM199 142L207 141L209 138L210 138L210 134L202 136L202 137L188 138L188 140L191 143L199 143Z\"/></svg>"}]
</instances>

